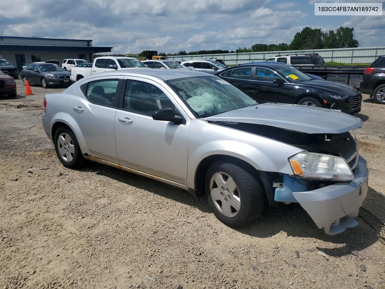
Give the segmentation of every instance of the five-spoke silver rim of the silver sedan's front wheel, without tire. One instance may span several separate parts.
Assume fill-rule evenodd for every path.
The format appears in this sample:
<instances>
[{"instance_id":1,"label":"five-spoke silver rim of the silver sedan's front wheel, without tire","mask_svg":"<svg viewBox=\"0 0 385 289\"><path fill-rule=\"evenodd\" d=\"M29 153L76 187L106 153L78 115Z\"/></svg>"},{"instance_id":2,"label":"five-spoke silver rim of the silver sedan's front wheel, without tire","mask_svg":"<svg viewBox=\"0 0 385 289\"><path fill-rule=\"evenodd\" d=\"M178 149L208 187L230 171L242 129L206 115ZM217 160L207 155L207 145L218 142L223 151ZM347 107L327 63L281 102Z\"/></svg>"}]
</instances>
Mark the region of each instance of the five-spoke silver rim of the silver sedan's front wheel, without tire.
<instances>
[{"instance_id":1,"label":"five-spoke silver rim of the silver sedan's front wheel, without tire","mask_svg":"<svg viewBox=\"0 0 385 289\"><path fill-rule=\"evenodd\" d=\"M215 207L223 215L233 218L241 209L241 196L233 178L223 171L214 173L210 180L210 195Z\"/></svg>"}]
</instances>

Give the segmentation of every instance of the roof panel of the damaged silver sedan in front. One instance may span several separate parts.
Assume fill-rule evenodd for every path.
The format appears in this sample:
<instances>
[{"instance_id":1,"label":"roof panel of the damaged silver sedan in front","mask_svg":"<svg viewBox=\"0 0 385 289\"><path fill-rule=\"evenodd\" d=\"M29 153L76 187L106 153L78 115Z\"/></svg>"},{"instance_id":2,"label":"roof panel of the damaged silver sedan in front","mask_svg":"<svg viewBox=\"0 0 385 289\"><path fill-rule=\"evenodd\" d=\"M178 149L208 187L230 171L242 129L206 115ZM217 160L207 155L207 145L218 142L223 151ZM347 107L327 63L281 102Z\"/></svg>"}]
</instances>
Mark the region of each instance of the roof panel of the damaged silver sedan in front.
<instances>
[{"instance_id":1,"label":"roof panel of the damaged silver sedan in front","mask_svg":"<svg viewBox=\"0 0 385 289\"><path fill-rule=\"evenodd\" d=\"M132 75L139 74L143 76L155 76L163 80L178 79L184 77L194 77L194 76L214 76L206 72L184 70L184 69L155 69L155 68L144 68L144 67L135 67L127 69L119 69L110 72L102 72L93 74L94 76L111 76L111 75Z\"/></svg>"}]
</instances>

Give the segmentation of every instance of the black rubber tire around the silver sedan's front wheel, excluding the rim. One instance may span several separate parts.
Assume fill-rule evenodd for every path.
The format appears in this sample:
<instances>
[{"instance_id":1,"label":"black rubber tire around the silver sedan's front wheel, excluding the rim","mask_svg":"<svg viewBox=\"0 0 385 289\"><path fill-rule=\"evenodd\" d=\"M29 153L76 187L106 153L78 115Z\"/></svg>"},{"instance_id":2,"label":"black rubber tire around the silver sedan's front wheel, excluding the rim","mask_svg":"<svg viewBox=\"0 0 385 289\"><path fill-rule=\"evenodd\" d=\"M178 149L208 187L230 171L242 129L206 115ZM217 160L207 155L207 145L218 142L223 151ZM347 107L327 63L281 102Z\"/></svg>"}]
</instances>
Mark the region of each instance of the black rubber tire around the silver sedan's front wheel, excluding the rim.
<instances>
[{"instance_id":1,"label":"black rubber tire around the silver sedan's front wheel, excluding the rim","mask_svg":"<svg viewBox=\"0 0 385 289\"><path fill-rule=\"evenodd\" d=\"M211 177L217 172L223 172L231 176L238 188L241 207L235 217L227 217L222 214L211 197L210 181ZM242 228L250 225L255 218L262 215L266 207L266 198L265 192L256 178L245 169L225 161L216 161L209 166L204 178L206 198L214 215L222 223L229 227Z\"/></svg>"}]
</instances>

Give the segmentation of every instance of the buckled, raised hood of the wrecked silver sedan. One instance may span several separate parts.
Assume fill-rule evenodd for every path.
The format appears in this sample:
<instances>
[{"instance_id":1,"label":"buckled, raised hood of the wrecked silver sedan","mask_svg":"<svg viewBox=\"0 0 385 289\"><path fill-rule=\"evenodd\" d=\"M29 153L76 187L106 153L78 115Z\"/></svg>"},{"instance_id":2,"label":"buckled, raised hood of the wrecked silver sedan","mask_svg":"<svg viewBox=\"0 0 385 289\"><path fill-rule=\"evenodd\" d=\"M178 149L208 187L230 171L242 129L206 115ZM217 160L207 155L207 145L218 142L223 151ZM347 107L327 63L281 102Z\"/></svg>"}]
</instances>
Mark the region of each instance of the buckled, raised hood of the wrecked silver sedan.
<instances>
[{"instance_id":1,"label":"buckled, raised hood of the wrecked silver sedan","mask_svg":"<svg viewBox=\"0 0 385 289\"><path fill-rule=\"evenodd\" d=\"M344 133L359 128L362 120L326 108L265 103L204 118L206 121L253 123L302 133Z\"/></svg>"}]
</instances>

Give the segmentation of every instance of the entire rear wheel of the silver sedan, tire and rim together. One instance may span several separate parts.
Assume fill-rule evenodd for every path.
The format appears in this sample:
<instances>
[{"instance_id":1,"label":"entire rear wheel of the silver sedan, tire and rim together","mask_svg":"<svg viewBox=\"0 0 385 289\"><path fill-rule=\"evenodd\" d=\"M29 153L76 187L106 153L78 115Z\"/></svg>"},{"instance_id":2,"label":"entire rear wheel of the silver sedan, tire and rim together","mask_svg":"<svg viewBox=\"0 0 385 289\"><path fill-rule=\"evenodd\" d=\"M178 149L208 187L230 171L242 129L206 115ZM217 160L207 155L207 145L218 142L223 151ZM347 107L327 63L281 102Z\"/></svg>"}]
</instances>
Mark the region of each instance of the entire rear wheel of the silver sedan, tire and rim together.
<instances>
[{"instance_id":1,"label":"entire rear wheel of the silver sedan, tire and rim together","mask_svg":"<svg viewBox=\"0 0 385 289\"><path fill-rule=\"evenodd\" d=\"M67 168L79 168L84 164L75 134L66 127L58 128L54 137L55 151L60 162Z\"/></svg>"}]
</instances>

